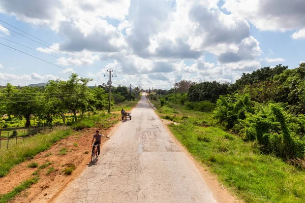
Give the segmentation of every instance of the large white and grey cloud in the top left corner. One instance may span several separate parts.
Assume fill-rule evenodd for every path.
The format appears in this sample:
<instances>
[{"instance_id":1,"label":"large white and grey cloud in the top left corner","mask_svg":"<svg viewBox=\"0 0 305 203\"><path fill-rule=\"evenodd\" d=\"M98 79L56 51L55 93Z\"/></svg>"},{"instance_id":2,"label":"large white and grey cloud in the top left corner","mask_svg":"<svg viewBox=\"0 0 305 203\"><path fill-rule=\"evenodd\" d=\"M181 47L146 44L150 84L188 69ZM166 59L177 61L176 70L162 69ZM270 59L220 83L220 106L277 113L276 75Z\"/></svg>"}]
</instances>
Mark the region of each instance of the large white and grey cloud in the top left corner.
<instances>
[{"instance_id":1,"label":"large white and grey cloud in the top left corner","mask_svg":"<svg viewBox=\"0 0 305 203\"><path fill-rule=\"evenodd\" d=\"M130 0L10 0L0 2L0 12L35 25L49 25L59 31L60 22L90 21L96 17L125 20ZM35 12L33 12L35 11Z\"/></svg>"}]
</instances>

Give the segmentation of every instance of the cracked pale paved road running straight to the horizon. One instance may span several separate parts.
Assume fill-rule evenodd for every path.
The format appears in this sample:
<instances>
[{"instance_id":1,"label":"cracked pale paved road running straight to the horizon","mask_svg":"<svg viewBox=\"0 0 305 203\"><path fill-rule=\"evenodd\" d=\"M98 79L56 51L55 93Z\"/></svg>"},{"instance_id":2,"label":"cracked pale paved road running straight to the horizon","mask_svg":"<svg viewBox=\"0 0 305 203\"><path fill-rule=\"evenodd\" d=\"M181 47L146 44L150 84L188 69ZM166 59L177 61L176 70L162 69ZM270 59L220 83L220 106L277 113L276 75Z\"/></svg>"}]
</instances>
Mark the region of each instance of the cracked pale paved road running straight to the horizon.
<instances>
[{"instance_id":1,"label":"cracked pale paved road running straight to the horizon","mask_svg":"<svg viewBox=\"0 0 305 203\"><path fill-rule=\"evenodd\" d=\"M88 160L89 161L89 160ZM216 202L145 95L55 202Z\"/></svg>"}]
</instances>

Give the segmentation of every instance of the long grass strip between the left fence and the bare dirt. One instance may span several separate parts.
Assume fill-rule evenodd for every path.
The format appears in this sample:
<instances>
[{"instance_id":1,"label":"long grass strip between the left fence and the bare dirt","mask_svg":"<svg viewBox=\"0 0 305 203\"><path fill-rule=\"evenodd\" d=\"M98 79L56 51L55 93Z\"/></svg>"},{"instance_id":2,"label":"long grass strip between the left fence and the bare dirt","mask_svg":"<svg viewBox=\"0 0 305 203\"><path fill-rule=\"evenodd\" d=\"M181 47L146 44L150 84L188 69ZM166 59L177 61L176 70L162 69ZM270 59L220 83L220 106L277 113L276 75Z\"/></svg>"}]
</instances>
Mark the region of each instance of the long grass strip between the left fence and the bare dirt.
<instances>
[{"instance_id":1,"label":"long grass strip between the left fence and the bare dirt","mask_svg":"<svg viewBox=\"0 0 305 203\"><path fill-rule=\"evenodd\" d=\"M47 134L38 134L35 137L27 138L20 144L12 146L0 154L0 177L4 177L10 169L36 154L49 149L60 139L66 138L72 130L68 127L56 127Z\"/></svg>"}]
</instances>

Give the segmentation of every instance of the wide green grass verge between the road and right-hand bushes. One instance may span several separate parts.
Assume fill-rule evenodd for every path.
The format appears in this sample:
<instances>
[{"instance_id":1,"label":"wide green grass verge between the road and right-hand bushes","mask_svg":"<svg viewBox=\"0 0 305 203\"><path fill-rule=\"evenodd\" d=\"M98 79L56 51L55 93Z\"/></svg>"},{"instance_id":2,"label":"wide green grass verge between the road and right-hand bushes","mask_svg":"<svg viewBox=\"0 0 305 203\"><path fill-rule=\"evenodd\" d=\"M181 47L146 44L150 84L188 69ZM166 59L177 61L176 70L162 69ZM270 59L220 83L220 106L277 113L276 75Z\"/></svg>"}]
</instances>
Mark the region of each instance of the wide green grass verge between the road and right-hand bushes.
<instances>
[{"instance_id":1,"label":"wide green grass verge between the road and right-hand bushes","mask_svg":"<svg viewBox=\"0 0 305 203\"><path fill-rule=\"evenodd\" d=\"M217 127L169 125L191 154L246 202L304 202L305 172Z\"/></svg>"}]
</instances>

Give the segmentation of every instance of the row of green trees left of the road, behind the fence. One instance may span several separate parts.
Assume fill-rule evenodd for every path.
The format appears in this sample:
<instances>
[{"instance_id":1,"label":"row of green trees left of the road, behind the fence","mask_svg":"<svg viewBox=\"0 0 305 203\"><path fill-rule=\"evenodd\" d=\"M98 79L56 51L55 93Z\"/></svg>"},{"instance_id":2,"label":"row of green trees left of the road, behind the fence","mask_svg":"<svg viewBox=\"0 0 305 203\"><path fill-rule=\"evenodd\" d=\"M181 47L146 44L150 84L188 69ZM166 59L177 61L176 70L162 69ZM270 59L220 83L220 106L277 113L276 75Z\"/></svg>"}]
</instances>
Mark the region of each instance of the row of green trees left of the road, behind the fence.
<instances>
[{"instance_id":1,"label":"row of green trees left of the road, behind the fence","mask_svg":"<svg viewBox=\"0 0 305 203\"><path fill-rule=\"evenodd\" d=\"M8 123L14 116L19 120L25 118L26 127L31 125L31 117L36 118L36 126L51 125L56 118L64 124L72 124L77 121L78 114L83 116L86 112L95 114L104 110L108 107L108 88L88 87L89 81L72 74L67 81L49 81L42 87L16 87L8 83L0 90L0 122L3 127L11 127ZM136 89L130 93L123 86L112 87L112 92L111 105L135 100L139 95ZM73 114L70 123L66 122L67 113Z\"/></svg>"}]
</instances>

